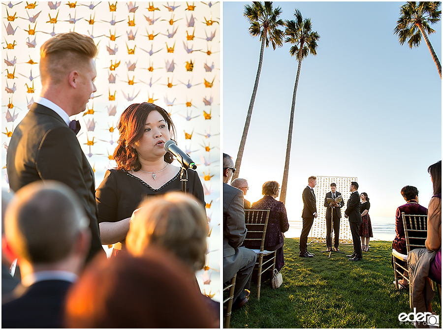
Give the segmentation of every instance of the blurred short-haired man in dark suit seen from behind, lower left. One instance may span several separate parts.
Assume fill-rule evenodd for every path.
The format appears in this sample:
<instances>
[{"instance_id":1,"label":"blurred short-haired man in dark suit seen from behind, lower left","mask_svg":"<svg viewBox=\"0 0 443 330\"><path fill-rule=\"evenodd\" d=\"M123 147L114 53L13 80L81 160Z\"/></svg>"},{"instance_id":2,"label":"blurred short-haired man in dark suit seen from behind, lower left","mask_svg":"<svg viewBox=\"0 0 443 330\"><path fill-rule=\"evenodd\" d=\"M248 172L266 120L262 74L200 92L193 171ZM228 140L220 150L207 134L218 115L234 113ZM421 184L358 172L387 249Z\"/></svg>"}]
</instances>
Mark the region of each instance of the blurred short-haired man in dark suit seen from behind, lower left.
<instances>
[{"instance_id":1,"label":"blurred short-haired man in dark suit seen from behind, lower left","mask_svg":"<svg viewBox=\"0 0 443 330\"><path fill-rule=\"evenodd\" d=\"M63 328L64 299L84 267L91 231L77 195L57 181L20 189L6 210L5 237L22 282L2 296L2 328Z\"/></svg>"}]
</instances>

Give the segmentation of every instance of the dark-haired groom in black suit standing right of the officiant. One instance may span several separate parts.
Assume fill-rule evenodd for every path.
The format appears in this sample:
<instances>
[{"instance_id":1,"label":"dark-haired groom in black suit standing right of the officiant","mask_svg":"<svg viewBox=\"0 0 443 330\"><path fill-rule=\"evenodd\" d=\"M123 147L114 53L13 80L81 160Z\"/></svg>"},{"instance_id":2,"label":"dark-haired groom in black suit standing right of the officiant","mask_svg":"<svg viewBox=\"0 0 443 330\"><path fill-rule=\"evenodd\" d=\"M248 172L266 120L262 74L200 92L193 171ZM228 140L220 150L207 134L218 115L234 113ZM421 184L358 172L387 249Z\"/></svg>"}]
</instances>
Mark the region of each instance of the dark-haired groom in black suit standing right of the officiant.
<instances>
[{"instance_id":1,"label":"dark-haired groom in black suit standing right of the officiant","mask_svg":"<svg viewBox=\"0 0 443 330\"><path fill-rule=\"evenodd\" d=\"M351 195L345 210L345 218L349 218L349 227L352 234L352 243L354 244L354 253L348 255L350 261L359 261L362 259L360 236L358 227L361 223L360 214L360 195L358 194L358 183L352 181L349 185Z\"/></svg>"}]
</instances>

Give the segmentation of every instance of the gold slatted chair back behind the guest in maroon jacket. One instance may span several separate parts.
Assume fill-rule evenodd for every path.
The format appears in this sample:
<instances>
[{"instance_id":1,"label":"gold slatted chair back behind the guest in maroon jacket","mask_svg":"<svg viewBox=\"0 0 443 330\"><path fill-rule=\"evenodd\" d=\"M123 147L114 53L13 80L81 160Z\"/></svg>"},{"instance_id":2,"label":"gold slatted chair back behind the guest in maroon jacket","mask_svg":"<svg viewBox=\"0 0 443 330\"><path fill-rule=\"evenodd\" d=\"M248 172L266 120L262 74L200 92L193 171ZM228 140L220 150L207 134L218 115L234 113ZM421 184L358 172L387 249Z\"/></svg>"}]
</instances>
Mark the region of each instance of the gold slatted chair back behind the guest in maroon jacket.
<instances>
[{"instance_id":1,"label":"gold slatted chair back behind the guest in maroon jacket","mask_svg":"<svg viewBox=\"0 0 443 330\"><path fill-rule=\"evenodd\" d=\"M425 241L428 235L428 216L405 214L405 212L402 212L402 218L408 253L416 248L425 248Z\"/></svg>"}]
</instances>

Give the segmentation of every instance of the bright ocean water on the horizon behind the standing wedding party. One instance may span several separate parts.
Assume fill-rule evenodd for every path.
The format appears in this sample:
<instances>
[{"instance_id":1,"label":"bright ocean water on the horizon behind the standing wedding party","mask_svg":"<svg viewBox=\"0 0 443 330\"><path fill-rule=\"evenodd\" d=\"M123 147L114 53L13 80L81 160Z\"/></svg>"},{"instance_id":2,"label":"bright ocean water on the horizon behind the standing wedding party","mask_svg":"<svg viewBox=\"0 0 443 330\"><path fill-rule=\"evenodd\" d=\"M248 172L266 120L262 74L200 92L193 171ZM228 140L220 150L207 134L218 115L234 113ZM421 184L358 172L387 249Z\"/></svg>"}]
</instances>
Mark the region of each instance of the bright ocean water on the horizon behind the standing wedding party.
<instances>
[{"instance_id":1,"label":"bright ocean water on the horizon behind the standing wedding party","mask_svg":"<svg viewBox=\"0 0 443 330\"><path fill-rule=\"evenodd\" d=\"M342 218L341 221L348 221ZM371 240L392 241L395 237L395 217L390 216L371 216L372 232L374 238ZM302 230L302 219L289 220L289 230L285 233L287 238L300 237Z\"/></svg>"}]
</instances>

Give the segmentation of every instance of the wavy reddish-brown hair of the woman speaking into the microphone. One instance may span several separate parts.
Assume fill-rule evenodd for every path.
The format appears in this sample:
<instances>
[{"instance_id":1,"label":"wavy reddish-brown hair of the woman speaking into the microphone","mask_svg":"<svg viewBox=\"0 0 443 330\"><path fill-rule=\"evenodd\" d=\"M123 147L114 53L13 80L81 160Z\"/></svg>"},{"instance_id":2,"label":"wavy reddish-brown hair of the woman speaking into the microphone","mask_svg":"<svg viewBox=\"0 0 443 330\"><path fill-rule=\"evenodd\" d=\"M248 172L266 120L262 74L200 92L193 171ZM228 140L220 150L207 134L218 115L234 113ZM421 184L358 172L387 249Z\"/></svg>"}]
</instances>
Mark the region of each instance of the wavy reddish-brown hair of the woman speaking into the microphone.
<instances>
[{"instance_id":1,"label":"wavy reddish-brown hair of the woman speaking into the microphone","mask_svg":"<svg viewBox=\"0 0 443 330\"><path fill-rule=\"evenodd\" d=\"M157 111L163 117L168 125L169 132L172 132L171 139L175 139L175 126L171 117L163 108L148 102L131 104L120 116L117 124L120 137L113 157L117 162L118 170L138 171L141 169L138 153L133 145L143 137L146 120L151 111ZM172 160L172 154L166 152L164 161L172 163Z\"/></svg>"}]
</instances>

